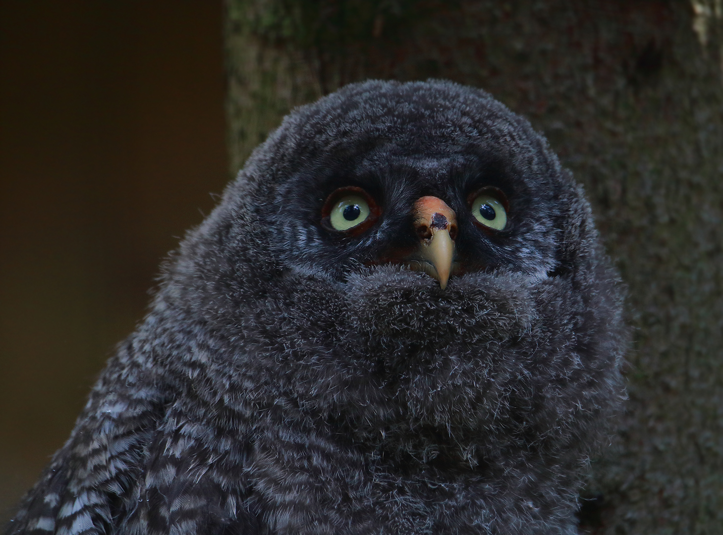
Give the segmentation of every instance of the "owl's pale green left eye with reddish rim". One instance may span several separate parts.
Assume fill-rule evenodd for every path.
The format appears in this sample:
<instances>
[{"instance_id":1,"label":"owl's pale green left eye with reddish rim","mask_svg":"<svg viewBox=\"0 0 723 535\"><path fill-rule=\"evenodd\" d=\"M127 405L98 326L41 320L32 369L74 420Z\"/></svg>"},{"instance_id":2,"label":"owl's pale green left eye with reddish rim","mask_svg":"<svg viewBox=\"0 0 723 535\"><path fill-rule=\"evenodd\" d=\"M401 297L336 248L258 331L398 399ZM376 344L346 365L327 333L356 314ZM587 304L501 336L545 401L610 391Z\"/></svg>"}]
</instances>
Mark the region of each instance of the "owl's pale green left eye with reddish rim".
<instances>
[{"instance_id":1,"label":"owl's pale green left eye with reddish rim","mask_svg":"<svg viewBox=\"0 0 723 535\"><path fill-rule=\"evenodd\" d=\"M364 189L343 187L327 198L322 208L322 226L354 235L369 228L380 213L380 208Z\"/></svg>"}]
</instances>

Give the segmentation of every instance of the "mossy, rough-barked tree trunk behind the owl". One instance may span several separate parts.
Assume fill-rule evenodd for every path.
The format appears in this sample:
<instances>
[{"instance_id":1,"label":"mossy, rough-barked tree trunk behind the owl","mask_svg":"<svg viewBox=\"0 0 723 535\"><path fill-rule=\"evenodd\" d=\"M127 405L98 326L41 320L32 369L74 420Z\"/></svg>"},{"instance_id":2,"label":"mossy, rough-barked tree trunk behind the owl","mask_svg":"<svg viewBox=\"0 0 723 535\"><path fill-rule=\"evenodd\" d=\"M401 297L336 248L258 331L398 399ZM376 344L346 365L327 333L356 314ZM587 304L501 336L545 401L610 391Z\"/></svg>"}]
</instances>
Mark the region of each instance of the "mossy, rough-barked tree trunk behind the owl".
<instances>
[{"instance_id":1,"label":"mossy, rough-barked tree trunk behind the owl","mask_svg":"<svg viewBox=\"0 0 723 535\"><path fill-rule=\"evenodd\" d=\"M706 3L706 1L708 3ZM723 529L720 0L228 0L231 171L356 80L488 90L587 189L629 286L630 399L581 533Z\"/></svg>"}]
</instances>

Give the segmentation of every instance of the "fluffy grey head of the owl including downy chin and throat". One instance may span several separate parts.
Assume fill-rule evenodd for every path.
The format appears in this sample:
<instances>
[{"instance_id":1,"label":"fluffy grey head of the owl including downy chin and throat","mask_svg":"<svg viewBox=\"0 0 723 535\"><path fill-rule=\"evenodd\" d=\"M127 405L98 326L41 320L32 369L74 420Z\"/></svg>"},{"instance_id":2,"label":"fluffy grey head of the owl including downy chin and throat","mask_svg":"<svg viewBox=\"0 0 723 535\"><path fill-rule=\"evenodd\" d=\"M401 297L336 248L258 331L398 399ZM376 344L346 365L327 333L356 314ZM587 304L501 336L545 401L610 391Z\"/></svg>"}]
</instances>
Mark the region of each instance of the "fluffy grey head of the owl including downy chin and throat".
<instances>
[{"instance_id":1,"label":"fluffy grey head of the owl including downy chin and throat","mask_svg":"<svg viewBox=\"0 0 723 535\"><path fill-rule=\"evenodd\" d=\"M369 448L509 471L596 442L623 393L622 294L525 119L471 87L370 81L254 150L158 306L213 338L234 403L293 399Z\"/></svg>"}]
</instances>

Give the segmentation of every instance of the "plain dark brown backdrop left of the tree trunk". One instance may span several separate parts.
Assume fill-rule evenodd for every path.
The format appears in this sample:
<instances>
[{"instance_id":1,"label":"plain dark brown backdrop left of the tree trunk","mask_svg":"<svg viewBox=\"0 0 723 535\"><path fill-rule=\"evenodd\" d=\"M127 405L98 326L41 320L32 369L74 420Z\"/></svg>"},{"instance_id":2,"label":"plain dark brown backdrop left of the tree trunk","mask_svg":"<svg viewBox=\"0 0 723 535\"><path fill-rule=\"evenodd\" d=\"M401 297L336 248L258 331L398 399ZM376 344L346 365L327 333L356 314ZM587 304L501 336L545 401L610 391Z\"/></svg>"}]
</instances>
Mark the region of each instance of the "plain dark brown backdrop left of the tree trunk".
<instances>
[{"instance_id":1,"label":"plain dark brown backdrop left of the tree trunk","mask_svg":"<svg viewBox=\"0 0 723 535\"><path fill-rule=\"evenodd\" d=\"M223 7L0 2L0 521L228 180Z\"/></svg>"}]
</instances>

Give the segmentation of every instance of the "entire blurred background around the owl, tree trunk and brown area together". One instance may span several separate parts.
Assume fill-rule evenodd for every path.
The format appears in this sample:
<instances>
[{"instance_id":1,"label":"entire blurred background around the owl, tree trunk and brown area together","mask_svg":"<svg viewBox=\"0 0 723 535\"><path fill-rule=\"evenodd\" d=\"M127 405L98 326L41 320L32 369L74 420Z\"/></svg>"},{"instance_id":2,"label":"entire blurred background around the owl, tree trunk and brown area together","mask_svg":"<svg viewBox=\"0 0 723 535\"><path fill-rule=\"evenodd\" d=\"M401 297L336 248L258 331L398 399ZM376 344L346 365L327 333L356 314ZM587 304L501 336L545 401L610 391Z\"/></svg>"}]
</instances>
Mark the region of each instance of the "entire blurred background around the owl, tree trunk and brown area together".
<instances>
[{"instance_id":1,"label":"entire blurred background around the owl, tree trunk and brown area together","mask_svg":"<svg viewBox=\"0 0 723 535\"><path fill-rule=\"evenodd\" d=\"M547 136L628 286L630 399L581 533L721 532L720 0L0 0L0 521L281 117L428 77Z\"/></svg>"}]
</instances>

